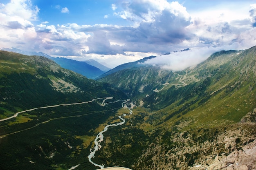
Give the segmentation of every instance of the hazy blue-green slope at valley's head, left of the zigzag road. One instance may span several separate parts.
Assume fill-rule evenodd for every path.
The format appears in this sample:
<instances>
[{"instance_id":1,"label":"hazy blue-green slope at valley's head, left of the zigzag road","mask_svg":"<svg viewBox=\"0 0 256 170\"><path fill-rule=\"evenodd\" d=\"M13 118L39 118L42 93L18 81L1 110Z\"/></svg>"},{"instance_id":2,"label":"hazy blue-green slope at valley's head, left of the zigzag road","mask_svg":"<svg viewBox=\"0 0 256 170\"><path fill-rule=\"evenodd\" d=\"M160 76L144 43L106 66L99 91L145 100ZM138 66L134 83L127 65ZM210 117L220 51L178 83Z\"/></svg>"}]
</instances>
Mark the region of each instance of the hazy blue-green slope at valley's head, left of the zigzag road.
<instances>
[{"instance_id":1,"label":"hazy blue-green slope at valley's head, left of the zigzag road","mask_svg":"<svg viewBox=\"0 0 256 170\"><path fill-rule=\"evenodd\" d=\"M113 87L121 89L129 97L134 98L152 93L153 89L161 87L166 79L173 77L172 71L162 70L157 66L141 66L117 71L98 81L108 82Z\"/></svg>"}]
</instances>

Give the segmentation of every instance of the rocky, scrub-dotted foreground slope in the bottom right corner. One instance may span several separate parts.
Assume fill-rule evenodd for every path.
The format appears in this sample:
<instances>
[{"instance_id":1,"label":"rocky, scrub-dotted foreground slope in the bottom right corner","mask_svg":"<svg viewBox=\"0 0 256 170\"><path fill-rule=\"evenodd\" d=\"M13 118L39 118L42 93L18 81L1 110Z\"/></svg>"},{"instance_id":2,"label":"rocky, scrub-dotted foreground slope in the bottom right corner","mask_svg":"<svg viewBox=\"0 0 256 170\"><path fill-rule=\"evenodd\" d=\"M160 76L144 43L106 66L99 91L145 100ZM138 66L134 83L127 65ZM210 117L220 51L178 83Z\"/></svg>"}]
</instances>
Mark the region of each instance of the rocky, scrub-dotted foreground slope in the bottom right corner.
<instances>
[{"instance_id":1,"label":"rocky, scrub-dotted foreground slope in the bottom right corner","mask_svg":"<svg viewBox=\"0 0 256 170\"><path fill-rule=\"evenodd\" d=\"M133 169L256 170L255 123L216 128L213 133L207 128L197 132L197 137L189 131L168 137L163 134L149 145Z\"/></svg>"}]
</instances>

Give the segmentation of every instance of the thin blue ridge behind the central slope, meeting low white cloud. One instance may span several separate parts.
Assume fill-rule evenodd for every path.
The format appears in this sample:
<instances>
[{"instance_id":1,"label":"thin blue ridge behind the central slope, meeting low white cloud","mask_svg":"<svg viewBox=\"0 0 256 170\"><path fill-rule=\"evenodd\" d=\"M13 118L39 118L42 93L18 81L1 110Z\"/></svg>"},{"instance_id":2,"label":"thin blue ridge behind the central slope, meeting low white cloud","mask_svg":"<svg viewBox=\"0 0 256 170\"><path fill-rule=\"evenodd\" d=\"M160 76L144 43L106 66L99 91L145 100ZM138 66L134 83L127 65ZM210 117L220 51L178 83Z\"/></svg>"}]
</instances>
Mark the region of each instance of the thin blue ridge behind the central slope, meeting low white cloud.
<instances>
[{"instance_id":1,"label":"thin blue ridge behind the central slope, meeting low white cloud","mask_svg":"<svg viewBox=\"0 0 256 170\"><path fill-rule=\"evenodd\" d=\"M97 79L100 79L102 77L105 77L105 76L110 75L112 73L116 73L116 72L124 70L124 69L130 69L130 68L133 68L133 67L141 67L140 63L143 63L146 60L154 58L154 57L156 57L156 56L151 55L149 57L144 57L143 59L135 61L135 62L129 62L129 63L121 64L121 65L111 69L110 71L100 75Z\"/></svg>"}]
</instances>

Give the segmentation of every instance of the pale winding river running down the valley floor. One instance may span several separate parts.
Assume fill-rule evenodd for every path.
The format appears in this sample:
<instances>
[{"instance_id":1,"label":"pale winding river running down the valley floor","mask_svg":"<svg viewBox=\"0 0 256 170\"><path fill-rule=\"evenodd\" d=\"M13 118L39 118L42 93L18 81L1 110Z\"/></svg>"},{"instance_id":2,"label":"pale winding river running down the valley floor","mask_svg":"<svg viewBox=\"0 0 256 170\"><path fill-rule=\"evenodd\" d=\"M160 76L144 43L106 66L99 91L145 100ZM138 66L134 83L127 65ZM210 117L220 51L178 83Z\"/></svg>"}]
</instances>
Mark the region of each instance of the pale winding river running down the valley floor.
<instances>
[{"instance_id":1,"label":"pale winding river running down the valley floor","mask_svg":"<svg viewBox=\"0 0 256 170\"><path fill-rule=\"evenodd\" d=\"M120 101L120 100L119 100L119 101ZM122 107L123 107L123 108L124 108L124 107L127 107L127 106L124 105L124 104L127 104L128 101L130 101L130 99L127 99L125 102L122 103ZM117 102L117 101L116 101L116 102ZM107 103L107 104L108 104L108 103ZM104 106L105 106L105 105L104 105ZM119 116L119 119L122 120L121 122L116 123L116 124L110 124L110 125L105 126L104 130L102 130L101 132L99 132L99 134L97 135L96 139L94 140L95 146L94 146L94 148L91 148L91 149L90 149L90 155L88 156L89 162L92 163L94 166L98 166L100 169L103 169L103 168L104 168L104 164L103 164L103 165L99 165L99 164L94 163L94 162L92 161L92 158L94 158L95 152L101 149L101 141L103 141L103 138L104 138L103 133L106 132L106 131L108 130L108 128L111 127L111 126L119 126L119 125L124 124L124 123L125 123L125 119L124 119L123 117L126 116L126 115L132 114L131 108L133 108L133 106L134 106L134 105L131 104L131 107L128 108L129 111L130 111L129 113L123 114L123 115Z\"/></svg>"}]
</instances>

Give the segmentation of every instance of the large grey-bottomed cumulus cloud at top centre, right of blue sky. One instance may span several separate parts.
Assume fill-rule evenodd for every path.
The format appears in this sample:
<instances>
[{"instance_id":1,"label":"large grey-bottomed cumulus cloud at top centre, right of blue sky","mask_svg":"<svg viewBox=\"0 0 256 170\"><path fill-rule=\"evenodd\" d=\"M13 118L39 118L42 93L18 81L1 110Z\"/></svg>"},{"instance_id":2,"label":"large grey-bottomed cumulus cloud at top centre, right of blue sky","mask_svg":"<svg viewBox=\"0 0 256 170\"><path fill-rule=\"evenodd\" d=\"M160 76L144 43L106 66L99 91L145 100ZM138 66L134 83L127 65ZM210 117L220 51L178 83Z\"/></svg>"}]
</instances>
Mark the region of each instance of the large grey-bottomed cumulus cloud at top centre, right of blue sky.
<instances>
[{"instance_id":1,"label":"large grey-bottomed cumulus cloud at top centre, right of blue sky","mask_svg":"<svg viewBox=\"0 0 256 170\"><path fill-rule=\"evenodd\" d=\"M191 24L191 18L186 8L178 2L166 0L131 1L122 3L123 11L117 13L119 17L130 20L133 26L93 26L93 36L103 41L97 42L98 47L92 47L94 43L88 43L89 51L94 53L123 53L123 51L154 52L166 50L168 46L189 40L191 33L186 31L186 26ZM88 28L83 31L90 31ZM100 30L100 31L95 31ZM106 46L104 39L115 42L115 46ZM114 51L117 50L117 51ZM111 51L111 52L110 52Z\"/></svg>"}]
</instances>

